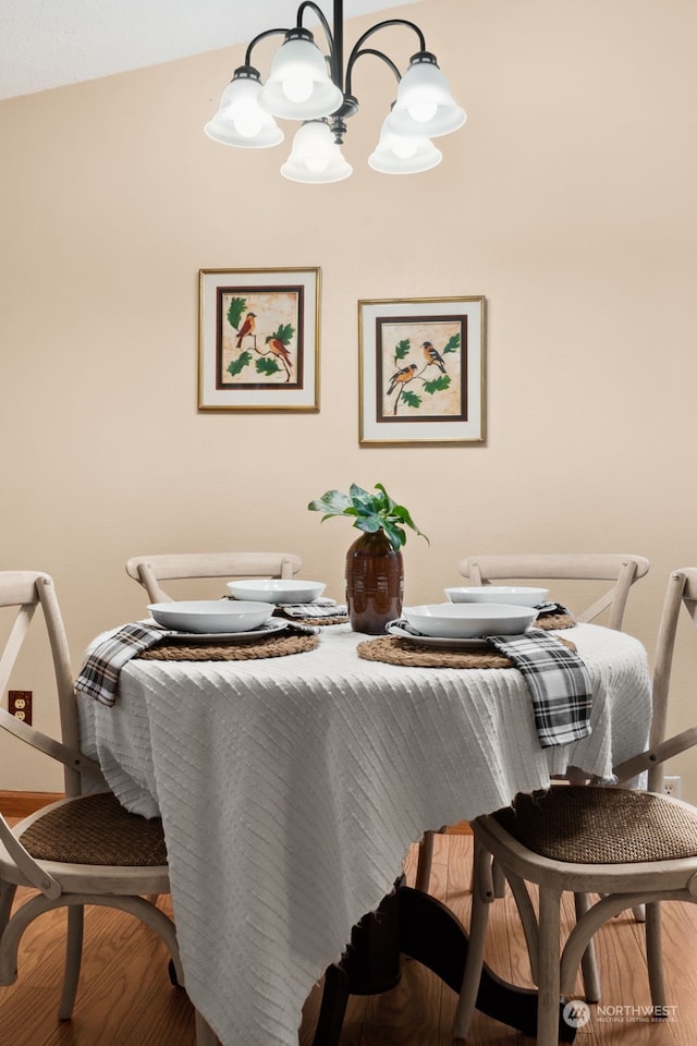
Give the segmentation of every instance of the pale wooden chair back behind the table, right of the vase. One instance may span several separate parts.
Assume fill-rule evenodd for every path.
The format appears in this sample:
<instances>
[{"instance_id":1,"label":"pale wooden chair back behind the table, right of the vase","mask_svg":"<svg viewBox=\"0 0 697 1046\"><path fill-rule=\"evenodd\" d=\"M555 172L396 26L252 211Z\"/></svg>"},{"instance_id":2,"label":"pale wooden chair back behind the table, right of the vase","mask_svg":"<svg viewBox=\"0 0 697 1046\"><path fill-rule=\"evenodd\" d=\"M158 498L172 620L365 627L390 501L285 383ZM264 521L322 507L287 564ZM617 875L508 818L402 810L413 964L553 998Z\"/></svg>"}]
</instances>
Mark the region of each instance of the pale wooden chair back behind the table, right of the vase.
<instances>
[{"instance_id":1,"label":"pale wooden chair back behind the table, right of the vase","mask_svg":"<svg viewBox=\"0 0 697 1046\"><path fill-rule=\"evenodd\" d=\"M577 621L595 621L608 611L611 629L622 629L632 585L649 570L648 559L614 552L541 552L524 555L468 556L457 564L472 585L511 584L521 581L612 582L610 588L588 606L570 607ZM588 585L574 585L583 600ZM550 598L554 598L553 591ZM559 600L564 601L564 600Z\"/></svg>"}]
</instances>

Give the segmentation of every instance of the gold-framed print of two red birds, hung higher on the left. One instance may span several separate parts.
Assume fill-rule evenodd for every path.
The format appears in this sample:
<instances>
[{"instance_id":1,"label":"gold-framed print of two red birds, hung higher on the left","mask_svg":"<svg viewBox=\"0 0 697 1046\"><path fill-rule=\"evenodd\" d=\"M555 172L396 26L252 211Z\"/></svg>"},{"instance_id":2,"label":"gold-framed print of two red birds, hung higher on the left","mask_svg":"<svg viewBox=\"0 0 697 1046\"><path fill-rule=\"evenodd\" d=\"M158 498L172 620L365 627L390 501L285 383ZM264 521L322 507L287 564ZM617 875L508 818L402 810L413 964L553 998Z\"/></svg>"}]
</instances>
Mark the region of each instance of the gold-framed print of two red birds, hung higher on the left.
<instances>
[{"instance_id":1,"label":"gold-framed print of two red birds, hung higher on the left","mask_svg":"<svg viewBox=\"0 0 697 1046\"><path fill-rule=\"evenodd\" d=\"M199 269L198 409L319 410L319 269Z\"/></svg>"}]
</instances>

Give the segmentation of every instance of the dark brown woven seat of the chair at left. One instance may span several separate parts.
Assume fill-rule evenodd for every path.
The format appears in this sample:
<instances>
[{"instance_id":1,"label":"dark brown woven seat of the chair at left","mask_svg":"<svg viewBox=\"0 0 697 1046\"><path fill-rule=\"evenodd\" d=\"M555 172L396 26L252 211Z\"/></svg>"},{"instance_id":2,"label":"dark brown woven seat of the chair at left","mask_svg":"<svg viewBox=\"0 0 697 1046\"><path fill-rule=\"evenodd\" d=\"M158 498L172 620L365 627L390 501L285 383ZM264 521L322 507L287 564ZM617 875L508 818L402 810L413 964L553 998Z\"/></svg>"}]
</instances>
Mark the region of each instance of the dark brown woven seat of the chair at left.
<instances>
[{"instance_id":1,"label":"dark brown woven seat of the chair at left","mask_svg":"<svg viewBox=\"0 0 697 1046\"><path fill-rule=\"evenodd\" d=\"M49 810L21 840L38 861L138 868L167 864L161 819L129 813L111 792Z\"/></svg>"}]
</instances>

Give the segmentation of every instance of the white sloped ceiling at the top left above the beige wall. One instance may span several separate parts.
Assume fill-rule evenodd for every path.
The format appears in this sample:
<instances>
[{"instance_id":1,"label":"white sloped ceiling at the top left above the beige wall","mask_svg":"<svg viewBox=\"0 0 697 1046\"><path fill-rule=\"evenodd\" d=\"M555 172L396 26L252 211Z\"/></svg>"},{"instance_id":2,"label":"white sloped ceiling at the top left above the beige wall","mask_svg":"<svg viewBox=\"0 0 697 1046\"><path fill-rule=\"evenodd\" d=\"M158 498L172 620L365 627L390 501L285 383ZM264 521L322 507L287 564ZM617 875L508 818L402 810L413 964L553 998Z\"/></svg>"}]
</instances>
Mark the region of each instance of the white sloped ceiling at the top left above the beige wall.
<instances>
[{"instance_id":1,"label":"white sloped ceiling at the top left above the beige wall","mask_svg":"<svg viewBox=\"0 0 697 1046\"><path fill-rule=\"evenodd\" d=\"M417 2L345 0L344 17ZM332 0L317 5L331 24ZM297 7L295 0L0 0L0 98L246 44L262 29L294 25Z\"/></svg>"}]
</instances>

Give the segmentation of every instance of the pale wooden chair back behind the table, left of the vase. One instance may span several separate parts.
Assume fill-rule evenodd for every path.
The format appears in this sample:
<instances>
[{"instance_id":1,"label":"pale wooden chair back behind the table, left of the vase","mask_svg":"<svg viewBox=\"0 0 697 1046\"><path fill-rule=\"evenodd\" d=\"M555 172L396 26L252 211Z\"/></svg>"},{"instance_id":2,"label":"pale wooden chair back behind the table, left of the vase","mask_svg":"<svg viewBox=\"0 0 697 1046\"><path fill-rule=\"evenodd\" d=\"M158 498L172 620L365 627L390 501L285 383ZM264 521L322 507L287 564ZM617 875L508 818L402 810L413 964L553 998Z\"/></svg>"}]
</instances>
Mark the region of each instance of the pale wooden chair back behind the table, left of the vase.
<instances>
[{"instance_id":1,"label":"pale wooden chair back behind the table, left of the vase","mask_svg":"<svg viewBox=\"0 0 697 1046\"><path fill-rule=\"evenodd\" d=\"M160 587L161 581L293 577L302 565L292 552L164 552L134 556L126 573L143 585L150 603L171 603L173 596Z\"/></svg>"}]
</instances>

